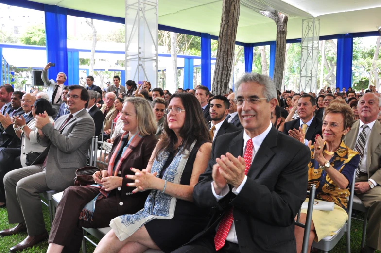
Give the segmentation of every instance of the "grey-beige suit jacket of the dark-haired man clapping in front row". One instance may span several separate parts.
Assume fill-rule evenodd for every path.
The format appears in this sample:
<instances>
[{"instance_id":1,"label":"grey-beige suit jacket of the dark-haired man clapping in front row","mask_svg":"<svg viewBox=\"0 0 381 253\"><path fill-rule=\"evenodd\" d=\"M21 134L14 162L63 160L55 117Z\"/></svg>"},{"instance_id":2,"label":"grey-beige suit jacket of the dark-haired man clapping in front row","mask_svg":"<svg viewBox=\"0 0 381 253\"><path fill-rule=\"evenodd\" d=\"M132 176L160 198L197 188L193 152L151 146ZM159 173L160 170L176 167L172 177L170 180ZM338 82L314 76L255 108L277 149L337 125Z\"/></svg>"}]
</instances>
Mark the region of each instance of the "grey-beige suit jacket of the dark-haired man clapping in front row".
<instances>
[{"instance_id":1,"label":"grey-beige suit jacket of the dark-haired man clapping in front row","mask_svg":"<svg viewBox=\"0 0 381 253\"><path fill-rule=\"evenodd\" d=\"M46 135L37 141L41 146L50 145L46 163L46 183L52 190L62 190L74 185L75 171L86 166L86 155L95 125L86 109L71 118L61 131L69 114L57 119L54 126L49 123L42 128Z\"/></svg>"}]
</instances>

